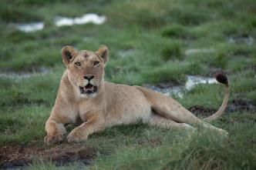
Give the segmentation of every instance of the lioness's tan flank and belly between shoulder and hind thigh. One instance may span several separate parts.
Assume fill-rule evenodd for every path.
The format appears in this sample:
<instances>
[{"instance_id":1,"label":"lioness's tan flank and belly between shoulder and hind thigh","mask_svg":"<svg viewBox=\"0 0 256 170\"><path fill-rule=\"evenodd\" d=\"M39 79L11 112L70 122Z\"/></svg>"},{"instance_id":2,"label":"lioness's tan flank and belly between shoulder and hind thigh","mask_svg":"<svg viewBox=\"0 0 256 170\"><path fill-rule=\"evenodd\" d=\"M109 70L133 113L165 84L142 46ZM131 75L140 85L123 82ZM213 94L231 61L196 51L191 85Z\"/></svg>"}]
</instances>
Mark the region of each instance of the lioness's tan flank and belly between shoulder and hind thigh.
<instances>
[{"instance_id":1,"label":"lioness's tan flank and belly between shoulder and hind thigh","mask_svg":"<svg viewBox=\"0 0 256 170\"><path fill-rule=\"evenodd\" d=\"M129 85L110 85L113 100L106 108L106 127L149 122L152 110L142 92Z\"/></svg>"}]
</instances>

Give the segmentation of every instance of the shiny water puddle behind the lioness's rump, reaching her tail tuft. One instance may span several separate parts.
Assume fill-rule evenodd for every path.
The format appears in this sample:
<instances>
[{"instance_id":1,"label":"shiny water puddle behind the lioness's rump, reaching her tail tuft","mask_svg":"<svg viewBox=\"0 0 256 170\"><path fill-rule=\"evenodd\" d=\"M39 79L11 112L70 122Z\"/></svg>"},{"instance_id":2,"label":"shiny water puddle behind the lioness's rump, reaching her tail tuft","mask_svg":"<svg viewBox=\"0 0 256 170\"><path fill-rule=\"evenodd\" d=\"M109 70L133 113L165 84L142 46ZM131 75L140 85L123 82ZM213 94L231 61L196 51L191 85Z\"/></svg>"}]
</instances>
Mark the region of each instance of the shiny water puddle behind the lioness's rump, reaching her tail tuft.
<instances>
[{"instance_id":1,"label":"shiny water puddle behind the lioness's rump, reaching her tail tuft","mask_svg":"<svg viewBox=\"0 0 256 170\"><path fill-rule=\"evenodd\" d=\"M156 92L161 92L164 95L177 95L180 98L184 98L184 91L190 90L194 87L194 85L197 84L213 84L217 83L217 80L215 78L206 78L198 75L187 75L187 82L183 87L180 86L172 86L165 83L160 83L157 85L150 85L150 84L143 84L144 87L150 88Z\"/></svg>"}]
</instances>

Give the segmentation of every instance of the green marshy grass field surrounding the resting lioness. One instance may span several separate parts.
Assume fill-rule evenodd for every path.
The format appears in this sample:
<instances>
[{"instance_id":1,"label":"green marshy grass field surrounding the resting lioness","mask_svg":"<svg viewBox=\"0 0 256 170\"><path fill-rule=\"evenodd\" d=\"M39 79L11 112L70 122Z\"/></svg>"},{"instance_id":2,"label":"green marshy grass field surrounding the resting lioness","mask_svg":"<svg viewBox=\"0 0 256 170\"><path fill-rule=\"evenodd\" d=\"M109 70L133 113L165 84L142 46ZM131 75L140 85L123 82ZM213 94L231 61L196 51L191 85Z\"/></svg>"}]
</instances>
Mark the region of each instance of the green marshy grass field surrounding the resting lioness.
<instances>
[{"instance_id":1,"label":"green marshy grass field surrounding the resting lioness","mask_svg":"<svg viewBox=\"0 0 256 170\"><path fill-rule=\"evenodd\" d=\"M255 169L255 9L254 0L2 0L0 168ZM106 16L106 22L54 24L56 16L89 13ZM22 32L10 25L31 22L44 22L44 28ZM171 97L185 108L204 106L199 117L220 107L224 87L199 84L187 90L186 75L224 72L230 100L223 116L211 124L229 132L229 138L138 124L108 128L84 143L65 139L45 145L45 122L66 70L60 54L65 45L91 51L106 45L106 81L178 85L184 97ZM191 52L197 49L201 52ZM79 147L84 148L72 153ZM63 156L49 161L52 153Z\"/></svg>"}]
</instances>

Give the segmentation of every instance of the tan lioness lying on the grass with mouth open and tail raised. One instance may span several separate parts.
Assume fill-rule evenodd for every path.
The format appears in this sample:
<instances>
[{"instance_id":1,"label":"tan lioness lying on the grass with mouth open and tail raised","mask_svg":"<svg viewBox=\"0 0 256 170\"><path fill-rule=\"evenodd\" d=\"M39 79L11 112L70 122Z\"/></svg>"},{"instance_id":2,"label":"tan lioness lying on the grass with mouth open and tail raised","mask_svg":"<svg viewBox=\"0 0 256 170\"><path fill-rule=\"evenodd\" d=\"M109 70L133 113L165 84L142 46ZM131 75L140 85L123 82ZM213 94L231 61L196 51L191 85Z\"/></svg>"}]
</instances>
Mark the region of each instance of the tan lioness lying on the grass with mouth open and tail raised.
<instances>
[{"instance_id":1,"label":"tan lioness lying on the grass with mouth open and tail raised","mask_svg":"<svg viewBox=\"0 0 256 170\"><path fill-rule=\"evenodd\" d=\"M191 125L201 124L220 134L227 134L207 123L221 116L227 105L229 85L226 75L216 76L217 81L226 87L221 108L203 122L167 95L136 85L104 81L104 68L109 56L105 45L101 45L98 52L76 52L71 46L66 46L61 54L67 69L62 75L56 104L45 124L47 145L61 142L66 133L65 126L69 124L78 127L67 136L68 142L86 140L88 135L113 125L140 121L164 128L191 130L195 129Z\"/></svg>"}]
</instances>

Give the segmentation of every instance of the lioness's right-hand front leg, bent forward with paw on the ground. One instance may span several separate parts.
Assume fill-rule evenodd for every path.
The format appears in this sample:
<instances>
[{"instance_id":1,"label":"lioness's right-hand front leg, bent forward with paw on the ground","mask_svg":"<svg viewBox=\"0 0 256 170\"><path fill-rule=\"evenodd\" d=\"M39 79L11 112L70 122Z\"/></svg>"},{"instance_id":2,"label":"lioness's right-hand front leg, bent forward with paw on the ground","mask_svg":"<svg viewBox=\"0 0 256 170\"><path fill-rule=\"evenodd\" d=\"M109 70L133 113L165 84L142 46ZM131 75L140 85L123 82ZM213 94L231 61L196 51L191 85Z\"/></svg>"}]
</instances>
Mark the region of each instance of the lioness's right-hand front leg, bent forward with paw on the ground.
<instances>
[{"instance_id":1,"label":"lioness's right-hand front leg, bent forward with paw on the ground","mask_svg":"<svg viewBox=\"0 0 256 170\"><path fill-rule=\"evenodd\" d=\"M100 132L105 129L105 120L101 117L94 117L84 122L79 127L76 127L70 132L67 139L68 142L85 141L89 135Z\"/></svg>"}]
</instances>

